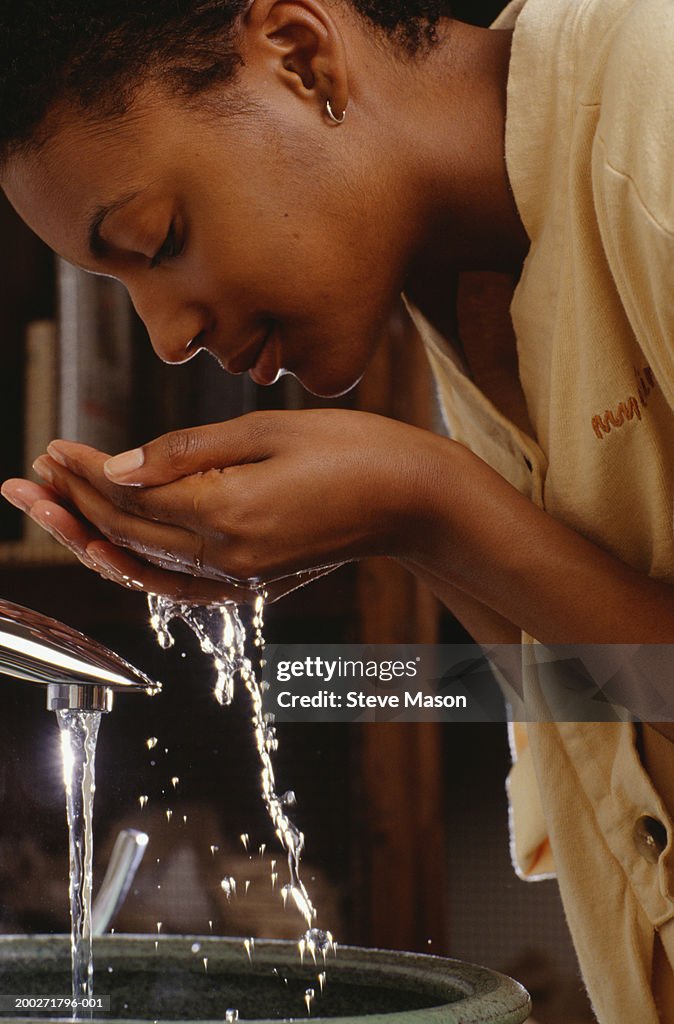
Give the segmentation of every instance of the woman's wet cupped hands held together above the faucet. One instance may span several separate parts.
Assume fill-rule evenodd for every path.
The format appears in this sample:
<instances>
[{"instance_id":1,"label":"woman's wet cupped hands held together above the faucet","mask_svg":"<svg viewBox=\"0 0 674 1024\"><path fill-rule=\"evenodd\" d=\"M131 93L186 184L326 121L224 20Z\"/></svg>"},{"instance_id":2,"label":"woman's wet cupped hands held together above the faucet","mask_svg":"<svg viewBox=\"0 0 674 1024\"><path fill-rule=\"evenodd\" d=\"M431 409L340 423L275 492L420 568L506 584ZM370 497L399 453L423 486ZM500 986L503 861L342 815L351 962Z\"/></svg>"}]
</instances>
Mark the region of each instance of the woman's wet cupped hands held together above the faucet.
<instances>
[{"instance_id":1,"label":"woman's wet cupped hands held together above the faucet","mask_svg":"<svg viewBox=\"0 0 674 1024\"><path fill-rule=\"evenodd\" d=\"M112 460L56 441L36 463L45 487L2 493L119 583L202 603L273 598L304 573L404 549L432 436L367 413L253 413Z\"/></svg>"}]
</instances>

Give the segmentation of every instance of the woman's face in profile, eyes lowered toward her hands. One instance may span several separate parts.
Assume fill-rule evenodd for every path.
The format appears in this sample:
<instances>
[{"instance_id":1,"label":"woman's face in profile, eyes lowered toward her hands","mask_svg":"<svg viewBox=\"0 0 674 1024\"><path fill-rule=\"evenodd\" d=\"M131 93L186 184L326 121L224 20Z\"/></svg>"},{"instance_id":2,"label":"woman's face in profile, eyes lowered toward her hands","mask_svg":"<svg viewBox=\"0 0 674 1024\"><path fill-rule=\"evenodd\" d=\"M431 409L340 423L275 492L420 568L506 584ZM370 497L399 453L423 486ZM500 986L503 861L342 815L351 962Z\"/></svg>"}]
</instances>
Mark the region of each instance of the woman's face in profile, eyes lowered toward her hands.
<instances>
[{"instance_id":1,"label":"woman's face in profile, eyes lowered toward her hands","mask_svg":"<svg viewBox=\"0 0 674 1024\"><path fill-rule=\"evenodd\" d=\"M52 249L123 282L163 359L207 348L260 384L285 370L338 394L402 287L407 229L348 115L258 92L236 116L150 85L114 121L61 112L2 184Z\"/></svg>"}]
</instances>

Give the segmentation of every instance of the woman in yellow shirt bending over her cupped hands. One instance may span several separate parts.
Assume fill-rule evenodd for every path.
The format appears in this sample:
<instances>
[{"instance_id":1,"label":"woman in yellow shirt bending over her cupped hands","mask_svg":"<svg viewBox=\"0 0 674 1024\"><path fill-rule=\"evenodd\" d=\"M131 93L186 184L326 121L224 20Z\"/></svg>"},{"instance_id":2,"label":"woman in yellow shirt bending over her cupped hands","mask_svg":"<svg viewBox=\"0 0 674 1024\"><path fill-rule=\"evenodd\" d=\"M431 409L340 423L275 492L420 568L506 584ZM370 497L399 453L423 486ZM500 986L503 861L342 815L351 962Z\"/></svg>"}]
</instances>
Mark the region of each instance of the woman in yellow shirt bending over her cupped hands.
<instances>
[{"instance_id":1,"label":"woman in yellow shirt bending over her cupped hands","mask_svg":"<svg viewBox=\"0 0 674 1024\"><path fill-rule=\"evenodd\" d=\"M115 459L55 442L9 501L182 599L385 554L478 641L674 638L668 0L514 0L490 31L375 0L9 6L2 185L162 358L335 395L403 290L453 438L255 414ZM496 387L444 338L469 268L521 273ZM667 734L640 758L630 725L537 726L511 780L602 1022L674 1019Z\"/></svg>"}]
</instances>

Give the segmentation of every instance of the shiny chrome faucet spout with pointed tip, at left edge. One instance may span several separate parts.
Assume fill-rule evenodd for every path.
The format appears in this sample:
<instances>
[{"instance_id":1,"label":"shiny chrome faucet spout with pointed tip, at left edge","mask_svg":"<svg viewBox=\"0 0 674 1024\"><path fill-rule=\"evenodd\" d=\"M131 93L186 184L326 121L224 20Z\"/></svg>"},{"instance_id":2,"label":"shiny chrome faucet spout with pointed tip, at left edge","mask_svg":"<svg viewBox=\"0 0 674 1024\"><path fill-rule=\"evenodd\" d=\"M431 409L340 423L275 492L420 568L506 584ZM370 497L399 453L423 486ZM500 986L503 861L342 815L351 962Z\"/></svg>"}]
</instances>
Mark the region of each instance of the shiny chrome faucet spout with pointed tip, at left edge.
<instances>
[{"instance_id":1,"label":"shiny chrome faucet spout with pointed tip, at left edge","mask_svg":"<svg viewBox=\"0 0 674 1024\"><path fill-rule=\"evenodd\" d=\"M115 691L161 690L102 644L39 611L0 599L0 673L47 688L49 711L109 712Z\"/></svg>"}]
</instances>

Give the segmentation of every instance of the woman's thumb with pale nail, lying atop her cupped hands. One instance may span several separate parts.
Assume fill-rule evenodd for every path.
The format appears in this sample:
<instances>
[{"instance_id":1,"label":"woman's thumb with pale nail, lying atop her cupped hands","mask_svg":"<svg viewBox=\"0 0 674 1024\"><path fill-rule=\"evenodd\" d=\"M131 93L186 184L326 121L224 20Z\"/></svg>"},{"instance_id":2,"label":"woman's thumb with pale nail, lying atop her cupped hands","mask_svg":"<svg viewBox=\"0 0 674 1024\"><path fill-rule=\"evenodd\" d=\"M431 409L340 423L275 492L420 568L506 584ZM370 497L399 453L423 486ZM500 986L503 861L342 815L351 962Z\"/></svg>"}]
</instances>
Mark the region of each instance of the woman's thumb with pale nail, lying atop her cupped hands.
<instances>
[{"instance_id":1,"label":"woman's thumb with pale nail, lying atop her cupped hands","mask_svg":"<svg viewBox=\"0 0 674 1024\"><path fill-rule=\"evenodd\" d=\"M142 447L116 455L103 464L113 483L157 486L193 473L258 462L270 454L265 438L268 415L252 413L226 423L173 430Z\"/></svg>"}]
</instances>

